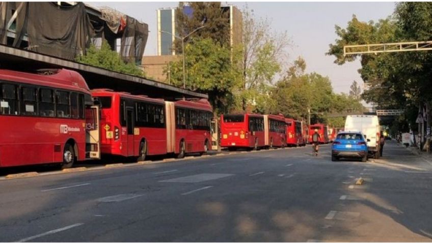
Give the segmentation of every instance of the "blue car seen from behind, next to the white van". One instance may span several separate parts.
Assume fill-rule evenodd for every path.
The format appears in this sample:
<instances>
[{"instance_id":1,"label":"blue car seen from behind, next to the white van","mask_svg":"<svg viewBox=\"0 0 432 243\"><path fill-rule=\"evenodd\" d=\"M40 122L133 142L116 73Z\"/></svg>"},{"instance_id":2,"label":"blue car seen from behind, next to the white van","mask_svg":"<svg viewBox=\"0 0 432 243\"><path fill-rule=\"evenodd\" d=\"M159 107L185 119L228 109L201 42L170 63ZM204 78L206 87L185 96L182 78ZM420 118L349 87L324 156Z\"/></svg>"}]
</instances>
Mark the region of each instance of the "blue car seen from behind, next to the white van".
<instances>
[{"instance_id":1,"label":"blue car seen from behind, next to the white van","mask_svg":"<svg viewBox=\"0 0 432 243\"><path fill-rule=\"evenodd\" d=\"M339 158L361 158L362 162L367 160L367 142L362 132L339 132L332 144L332 161Z\"/></svg>"}]
</instances>

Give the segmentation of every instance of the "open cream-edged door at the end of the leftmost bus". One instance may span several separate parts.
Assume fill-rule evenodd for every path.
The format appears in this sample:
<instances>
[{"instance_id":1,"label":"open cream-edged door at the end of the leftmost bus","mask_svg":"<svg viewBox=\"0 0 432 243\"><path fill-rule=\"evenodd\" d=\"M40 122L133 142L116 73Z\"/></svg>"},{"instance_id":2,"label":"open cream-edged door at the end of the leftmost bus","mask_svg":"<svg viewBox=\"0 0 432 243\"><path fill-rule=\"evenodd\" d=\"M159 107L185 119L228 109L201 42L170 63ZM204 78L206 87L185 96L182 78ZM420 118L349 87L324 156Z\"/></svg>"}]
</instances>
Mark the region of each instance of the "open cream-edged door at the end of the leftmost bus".
<instances>
[{"instance_id":1,"label":"open cream-edged door at the end of the leftmost bus","mask_svg":"<svg viewBox=\"0 0 432 243\"><path fill-rule=\"evenodd\" d=\"M86 159L100 158L100 110L98 105L86 108Z\"/></svg>"}]
</instances>

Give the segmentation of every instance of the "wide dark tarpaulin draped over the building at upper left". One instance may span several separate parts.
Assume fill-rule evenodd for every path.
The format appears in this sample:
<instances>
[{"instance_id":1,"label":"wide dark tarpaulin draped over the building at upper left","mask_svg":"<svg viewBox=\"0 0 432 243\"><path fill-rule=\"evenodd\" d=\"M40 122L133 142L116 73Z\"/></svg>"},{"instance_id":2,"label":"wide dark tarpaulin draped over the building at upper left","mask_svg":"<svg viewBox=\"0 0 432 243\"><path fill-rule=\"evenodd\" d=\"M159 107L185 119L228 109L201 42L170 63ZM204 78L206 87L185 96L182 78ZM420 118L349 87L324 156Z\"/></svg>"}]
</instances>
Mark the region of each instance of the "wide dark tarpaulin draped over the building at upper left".
<instances>
[{"instance_id":1,"label":"wide dark tarpaulin draped over the building at upper left","mask_svg":"<svg viewBox=\"0 0 432 243\"><path fill-rule=\"evenodd\" d=\"M93 32L83 3L71 7L48 2L28 5L27 34L31 50L73 60L85 53Z\"/></svg>"}]
</instances>

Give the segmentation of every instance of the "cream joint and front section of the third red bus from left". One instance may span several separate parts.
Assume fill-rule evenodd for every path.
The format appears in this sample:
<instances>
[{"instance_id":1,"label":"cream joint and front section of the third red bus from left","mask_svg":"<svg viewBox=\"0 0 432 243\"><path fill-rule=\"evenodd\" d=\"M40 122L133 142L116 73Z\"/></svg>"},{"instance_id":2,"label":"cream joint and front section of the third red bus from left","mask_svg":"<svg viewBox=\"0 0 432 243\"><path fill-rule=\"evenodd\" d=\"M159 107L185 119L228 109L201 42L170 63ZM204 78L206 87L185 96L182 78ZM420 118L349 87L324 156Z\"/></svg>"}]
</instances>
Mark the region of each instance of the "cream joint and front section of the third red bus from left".
<instances>
[{"instance_id":1,"label":"cream joint and front section of the third red bus from left","mask_svg":"<svg viewBox=\"0 0 432 243\"><path fill-rule=\"evenodd\" d=\"M286 124L282 115L264 115L265 146L286 146Z\"/></svg>"}]
</instances>

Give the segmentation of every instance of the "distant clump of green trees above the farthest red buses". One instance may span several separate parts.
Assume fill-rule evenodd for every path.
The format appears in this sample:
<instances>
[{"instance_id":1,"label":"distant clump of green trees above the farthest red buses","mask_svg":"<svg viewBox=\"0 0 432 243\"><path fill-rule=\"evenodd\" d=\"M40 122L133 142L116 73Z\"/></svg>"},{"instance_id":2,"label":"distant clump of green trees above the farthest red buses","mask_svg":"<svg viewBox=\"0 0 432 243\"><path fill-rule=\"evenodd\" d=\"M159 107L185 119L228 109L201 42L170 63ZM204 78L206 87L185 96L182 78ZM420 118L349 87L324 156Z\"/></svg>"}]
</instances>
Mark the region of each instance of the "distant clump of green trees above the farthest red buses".
<instances>
[{"instance_id":1,"label":"distant clump of green trees above the farthest red buses","mask_svg":"<svg viewBox=\"0 0 432 243\"><path fill-rule=\"evenodd\" d=\"M286 75L276 84L276 105L273 113L302 119L311 110L311 122L343 126L343 118L328 118L331 113L363 112L359 99L346 94L335 94L328 77L318 73L305 73L306 62L298 58L288 68Z\"/></svg>"}]
</instances>

